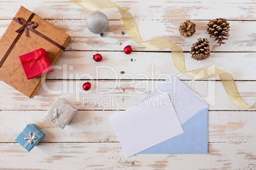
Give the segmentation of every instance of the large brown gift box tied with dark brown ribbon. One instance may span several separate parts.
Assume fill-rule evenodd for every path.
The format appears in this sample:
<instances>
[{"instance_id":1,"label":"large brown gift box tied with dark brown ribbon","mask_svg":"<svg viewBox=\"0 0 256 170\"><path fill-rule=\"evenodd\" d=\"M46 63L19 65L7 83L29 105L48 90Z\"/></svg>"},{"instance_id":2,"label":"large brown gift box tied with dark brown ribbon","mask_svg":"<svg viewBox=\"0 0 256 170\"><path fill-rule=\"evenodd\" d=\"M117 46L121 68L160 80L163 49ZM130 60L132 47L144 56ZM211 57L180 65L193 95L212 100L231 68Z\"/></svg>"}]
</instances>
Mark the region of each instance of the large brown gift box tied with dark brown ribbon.
<instances>
[{"instance_id":1,"label":"large brown gift box tied with dark brown ribbon","mask_svg":"<svg viewBox=\"0 0 256 170\"><path fill-rule=\"evenodd\" d=\"M0 39L0 80L33 98L48 74L27 80L18 56L43 48L53 66L70 40L67 34L21 6Z\"/></svg>"}]
</instances>

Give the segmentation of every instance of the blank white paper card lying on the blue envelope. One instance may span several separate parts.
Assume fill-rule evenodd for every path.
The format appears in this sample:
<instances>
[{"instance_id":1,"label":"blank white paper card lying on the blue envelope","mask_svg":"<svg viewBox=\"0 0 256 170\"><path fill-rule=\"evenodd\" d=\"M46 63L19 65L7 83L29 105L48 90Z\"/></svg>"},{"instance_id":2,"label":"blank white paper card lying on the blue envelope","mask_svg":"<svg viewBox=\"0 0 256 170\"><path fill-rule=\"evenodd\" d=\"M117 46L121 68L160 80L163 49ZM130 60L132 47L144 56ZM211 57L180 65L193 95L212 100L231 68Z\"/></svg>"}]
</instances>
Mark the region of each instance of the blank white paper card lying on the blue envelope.
<instances>
[{"instance_id":1,"label":"blank white paper card lying on the blue envelope","mask_svg":"<svg viewBox=\"0 0 256 170\"><path fill-rule=\"evenodd\" d=\"M183 133L171 102L169 95L162 94L110 117L126 157Z\"/></svg>"}]
</instances>

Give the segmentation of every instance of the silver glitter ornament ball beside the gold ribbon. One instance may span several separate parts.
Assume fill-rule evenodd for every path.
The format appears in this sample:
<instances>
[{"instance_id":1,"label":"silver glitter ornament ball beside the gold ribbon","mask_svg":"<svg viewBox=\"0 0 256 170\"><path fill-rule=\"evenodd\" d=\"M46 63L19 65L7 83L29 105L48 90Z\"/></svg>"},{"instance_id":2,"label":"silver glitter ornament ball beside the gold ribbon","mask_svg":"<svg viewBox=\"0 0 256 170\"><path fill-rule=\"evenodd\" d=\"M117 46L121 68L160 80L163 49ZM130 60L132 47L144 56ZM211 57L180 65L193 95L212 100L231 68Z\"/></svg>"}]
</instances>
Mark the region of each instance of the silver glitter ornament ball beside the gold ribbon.
<instances>
[{"instance_id":1,"label":"silver glitter ornament ball beside the gold ribbon","mask_svg":"<svg viewBox=\"0 0 256 170\"><path fill-rule=\"evenodd\" d=\"M87 16L87 28L94 34L103 34L108 29L108 17L101 11L94 11Z\"/></svg>"}]
</instances>

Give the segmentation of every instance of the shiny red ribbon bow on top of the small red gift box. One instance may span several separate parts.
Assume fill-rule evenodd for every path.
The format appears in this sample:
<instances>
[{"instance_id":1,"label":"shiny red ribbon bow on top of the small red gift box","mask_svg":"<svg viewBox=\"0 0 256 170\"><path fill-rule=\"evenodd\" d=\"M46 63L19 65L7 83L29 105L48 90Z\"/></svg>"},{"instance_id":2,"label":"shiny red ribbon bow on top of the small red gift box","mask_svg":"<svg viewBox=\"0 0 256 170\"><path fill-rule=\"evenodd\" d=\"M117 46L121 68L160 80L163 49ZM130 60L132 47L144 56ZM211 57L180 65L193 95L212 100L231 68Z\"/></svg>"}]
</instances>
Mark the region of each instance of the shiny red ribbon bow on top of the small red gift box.
<instances>
[{"instance_id":1,"label":"shiny red ribbon bow on top of the small red gift box","mask_svg":"<svg viewBox=\"0 0 256 170\"><path fill-rule=\"evenodd\" d=\"M43 49L39 49L39 51L34 51L34 57L32 58L27 58L27 60L22 62L22 65L26 63L30 63L30 69L34 67L34 65L38 62L38 65L40 67L41 72L43 72L45 69L43 69L43 65L47 68L48 63L45 62L43 59L44 56L46 56L45 51Z\"/></svg>"}]
</instances>

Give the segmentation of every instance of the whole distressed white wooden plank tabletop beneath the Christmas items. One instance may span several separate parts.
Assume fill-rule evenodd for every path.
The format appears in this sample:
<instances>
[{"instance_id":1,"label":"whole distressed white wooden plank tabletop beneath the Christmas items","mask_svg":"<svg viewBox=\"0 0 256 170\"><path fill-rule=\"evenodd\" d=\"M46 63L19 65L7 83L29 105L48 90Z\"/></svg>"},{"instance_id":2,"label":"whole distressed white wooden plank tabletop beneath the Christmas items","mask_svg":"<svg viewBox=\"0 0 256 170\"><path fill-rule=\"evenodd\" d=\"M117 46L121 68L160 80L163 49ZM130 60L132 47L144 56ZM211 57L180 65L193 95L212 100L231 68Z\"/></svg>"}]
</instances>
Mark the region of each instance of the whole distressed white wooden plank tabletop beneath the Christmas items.
<instances>
[{"instance_id":1,"label":"whole distressed white wooden plank tabletop beneath the Christmas items","mask_svg":"<svg viewBox=\"0 0 256 170\"><path fill-rule=\"evenodd\" d=\"M254 0L114 2L131 12L143 40L170 39L183 48L188 70L216 65L233 75L246 103L256 101ZM29 99L0 81L0 168L256 169L255 109L236 107L218 77L196 82L186 75L179 77L190 88L194 84L194 91L209 103L209 154L134 155L126 159L108 117L129 108L125 101L143 98L157 80L165 79L160 74L179 74L170 49L150 51L131 41L114 8L103 10L110 20L105 37L92 34L85 24L89 11L61 0L0 1L0 36L21 5L69 34L72 40L57 62L59 67L35 98ZM227 18L231 25L229 40L220 47L206 32L206 23L218 17ZM196 23L192 37L179 34L178 27L185 20ZM210 58L201 62L188 53L199 37L208 38L212 51ZM129 42L134 52L125 55L122 50ZM102 62L92 60L96 53L104 56ZM124 74L120 74L122 71ZM80 94L80 87L89 79L92 90ZM57 97L79 109L64 130L44 118ZM120 106L110 100L118 101ZM46 134L31 152L14 141L29 123Z\"/></svg>"}]
</instances>

